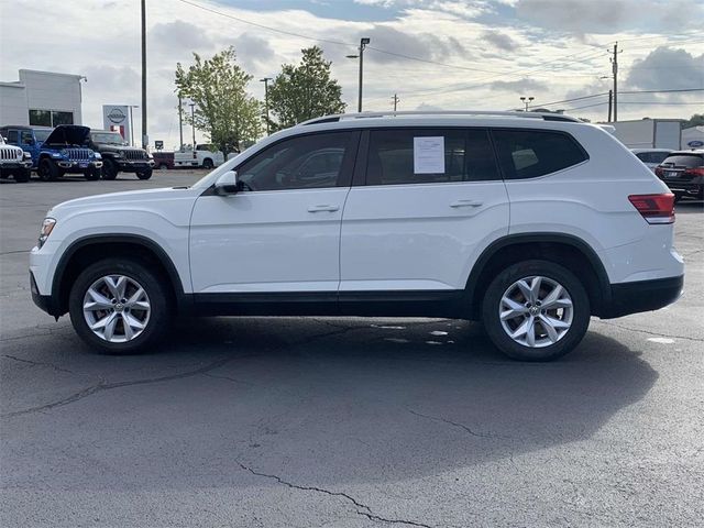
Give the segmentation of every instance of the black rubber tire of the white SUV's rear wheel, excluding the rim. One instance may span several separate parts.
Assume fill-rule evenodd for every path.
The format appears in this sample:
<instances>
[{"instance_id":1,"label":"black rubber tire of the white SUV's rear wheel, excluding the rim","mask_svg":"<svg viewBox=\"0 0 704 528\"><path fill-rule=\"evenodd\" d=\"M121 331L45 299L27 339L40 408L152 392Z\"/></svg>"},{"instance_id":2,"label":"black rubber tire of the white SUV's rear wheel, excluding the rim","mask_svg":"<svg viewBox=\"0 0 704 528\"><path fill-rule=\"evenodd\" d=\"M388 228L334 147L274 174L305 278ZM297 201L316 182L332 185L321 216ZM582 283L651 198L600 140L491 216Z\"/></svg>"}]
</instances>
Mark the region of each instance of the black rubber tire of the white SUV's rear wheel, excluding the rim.
<instances>
[{"instance_id":1,"label":"black rubber tire of the white SUV's rear wheel, excluding the rim","mask_svg":"<svg viewBox=\"0 0 704 528\"><path fill-rule=\"evenodd\" d=\"M503 309L502 297L508 293L508 289L521 278L535 276L544 277L562 286L572 300L573 311L569 329L559 337L557 342L546 346L532 348L521 344L508 336L502 324L499 314ZM544 284L549 283L546 282ZM518 300L518 304L528 305L528 302L524 304L522 300ZM538 304L537 307L539 309L540 305ZM557 311L546 314L546 316L560 317ZM569 270L549 261L524 261L505 268L490 284L482 304L482 319L492 342L509 358L520 361L552 361L572 351L584 338L590 324L590 299L580 279ZM532 316L529 315L517 316L518 322L521 321L520 317L530 317L532 320ZM540 318L542 316L538 315L537 317ZM516 319L507 321L507 324L517 324L514 322ZM541 322L538 322L534 334L542 333L547 339L544 328Z\"/></svg>"}]
</instances>

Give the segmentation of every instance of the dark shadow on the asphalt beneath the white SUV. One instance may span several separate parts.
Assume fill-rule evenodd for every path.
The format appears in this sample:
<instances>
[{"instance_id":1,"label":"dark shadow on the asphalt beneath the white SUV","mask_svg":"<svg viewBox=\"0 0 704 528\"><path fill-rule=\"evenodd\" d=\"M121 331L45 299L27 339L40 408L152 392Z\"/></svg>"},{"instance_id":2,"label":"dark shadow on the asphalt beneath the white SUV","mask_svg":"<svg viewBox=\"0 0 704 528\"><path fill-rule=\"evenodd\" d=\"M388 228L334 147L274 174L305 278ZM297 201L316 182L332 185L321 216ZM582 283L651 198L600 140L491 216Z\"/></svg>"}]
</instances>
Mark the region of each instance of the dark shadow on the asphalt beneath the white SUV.
<instances>
[{"instance_id":1,"label":"dark shadow on the asphalt beneath the white SUV","mask_svg":"<svg viewBox=\"0 0 704 528\"><path fill-rule=\"evenodd\" d=\"M58 346L102 388L16 417L29 421L7 446L41 444L35 475L56 470L57 450L99 461L62 469L86 488L237 486L243 469L339 485L509 463L588 439L658 378L596 332L560 361L520 363L454 320L184 319L146 355L86 354L73 336Z\"/></svg>"}]
</instances>

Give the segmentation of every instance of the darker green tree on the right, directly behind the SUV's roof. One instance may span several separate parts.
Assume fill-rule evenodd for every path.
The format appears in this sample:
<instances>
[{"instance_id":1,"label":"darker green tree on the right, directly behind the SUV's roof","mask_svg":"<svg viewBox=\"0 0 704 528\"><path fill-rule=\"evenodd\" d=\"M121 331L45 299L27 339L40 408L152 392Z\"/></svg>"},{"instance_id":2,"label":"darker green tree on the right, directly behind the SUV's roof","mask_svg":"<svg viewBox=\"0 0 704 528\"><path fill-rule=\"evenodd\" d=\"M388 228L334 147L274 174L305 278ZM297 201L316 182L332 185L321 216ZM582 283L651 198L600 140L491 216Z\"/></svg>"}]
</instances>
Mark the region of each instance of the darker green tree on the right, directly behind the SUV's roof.
<instances>
[{"instance_id":1,"label":"darker green tree on the right, directly behind the SUV's roof","mask_svg":"<svg viewBox=\"0 0 704 528\"><path fill-rule=\"evenodd\" d=\"M293 127L312 118L342 113L342 88L330 77L330 63L318 46L301 50L298 66L285 64L268 90L268 105L277 129Z\"/></svg>"}]
</instances>

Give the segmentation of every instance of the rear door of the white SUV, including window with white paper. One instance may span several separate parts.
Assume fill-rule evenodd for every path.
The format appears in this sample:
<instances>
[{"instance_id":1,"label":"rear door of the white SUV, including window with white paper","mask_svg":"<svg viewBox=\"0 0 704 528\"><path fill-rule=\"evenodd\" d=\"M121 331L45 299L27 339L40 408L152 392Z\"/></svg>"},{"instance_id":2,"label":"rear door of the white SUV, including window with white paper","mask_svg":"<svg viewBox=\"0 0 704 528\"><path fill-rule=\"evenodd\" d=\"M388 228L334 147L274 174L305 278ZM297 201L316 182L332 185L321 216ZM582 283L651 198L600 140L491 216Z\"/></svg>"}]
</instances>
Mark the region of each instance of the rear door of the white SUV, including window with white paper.
<instances>
[{"instance_id":1,"label":"rear door of the white SUV, including window with white paper","mask_svg":"<svg viewBox=\"0 0 704 528\"><path fill-rule=\"evenodd\" d=\"M508 232L508 199L488 132L365 134L364 182L352 187L342 219L341 298L464 288L481 251Z\"/></svg>"}]
</instances>

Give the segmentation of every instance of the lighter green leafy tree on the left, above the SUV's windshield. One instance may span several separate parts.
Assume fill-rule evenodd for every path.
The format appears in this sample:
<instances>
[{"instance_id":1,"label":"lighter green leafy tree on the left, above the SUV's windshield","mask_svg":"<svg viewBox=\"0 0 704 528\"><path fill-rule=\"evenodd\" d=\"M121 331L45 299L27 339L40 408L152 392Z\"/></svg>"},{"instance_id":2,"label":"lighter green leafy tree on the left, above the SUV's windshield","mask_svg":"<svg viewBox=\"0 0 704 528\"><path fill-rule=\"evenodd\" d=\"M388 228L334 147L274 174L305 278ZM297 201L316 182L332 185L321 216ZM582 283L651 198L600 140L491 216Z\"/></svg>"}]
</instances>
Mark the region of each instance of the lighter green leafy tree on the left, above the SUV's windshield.
<instances>
[{"instance_id":1,"label":"lighter green leafy tree on the left, above the SUV's windshield","mask_svg":"<svg viewBox=\"0 0 704 528\"><path fill-rule=\"evenodd\" d=\"M194 64L185 69L176 64L176 92L196 103L195 118L186 122L205 132L227 153L262 134L262 106L246 91L252 76L237 64L233 47L202 59L194 53Z\"/></svg>"}]
</instances>

